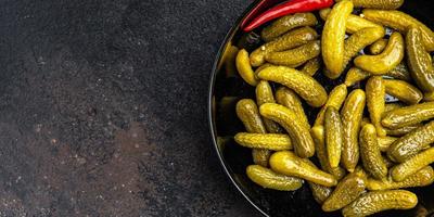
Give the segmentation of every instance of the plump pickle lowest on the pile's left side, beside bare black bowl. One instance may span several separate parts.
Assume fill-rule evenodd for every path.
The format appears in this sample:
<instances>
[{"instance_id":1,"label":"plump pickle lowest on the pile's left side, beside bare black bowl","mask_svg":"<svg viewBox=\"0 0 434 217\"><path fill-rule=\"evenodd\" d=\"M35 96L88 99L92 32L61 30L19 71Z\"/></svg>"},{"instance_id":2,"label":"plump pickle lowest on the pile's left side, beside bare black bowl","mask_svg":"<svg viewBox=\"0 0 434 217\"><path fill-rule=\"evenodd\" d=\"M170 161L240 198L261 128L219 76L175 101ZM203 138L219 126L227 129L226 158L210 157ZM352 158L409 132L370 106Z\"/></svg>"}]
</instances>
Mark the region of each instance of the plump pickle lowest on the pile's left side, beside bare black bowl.
<instances>
[{"instance_id":1,"label":"plump pickle lowest on the pile's left side, beside bare black bowl","mask_svg":"<svg viewBox=\"0 0 434 217\"><path fill-rule=\"evenodd\" d=\"M269 168L251 165L246 168L247 177L255 183L279 191L295 191L303 186L303 179L276 174Z\"/></svg>"}]
</instances>

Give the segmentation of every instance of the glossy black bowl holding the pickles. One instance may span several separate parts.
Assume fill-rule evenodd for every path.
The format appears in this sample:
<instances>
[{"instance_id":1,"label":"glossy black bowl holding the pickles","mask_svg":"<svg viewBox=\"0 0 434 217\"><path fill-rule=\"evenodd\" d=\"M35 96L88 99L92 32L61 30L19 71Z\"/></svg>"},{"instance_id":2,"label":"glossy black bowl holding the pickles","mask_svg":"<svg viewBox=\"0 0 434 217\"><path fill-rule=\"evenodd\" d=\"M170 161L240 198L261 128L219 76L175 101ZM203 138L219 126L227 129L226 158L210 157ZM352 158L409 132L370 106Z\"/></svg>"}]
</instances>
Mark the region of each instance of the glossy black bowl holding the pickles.
<instances>
[{"instance_id":1,"label":"glossy black bowl holding the pickles","mask_svg":"<svg viewBox=\"0 0 434 217\"><path fill-rule=\"evenodd\" d=\"M233 60L230 48L245 48L252 51L259 40L256 34L245 34L240 29L244 16L259 2L256 0L238 20L228 33L217 54L209 86L209 125L213 142L221 165L241 194L265 216L340 216L340 213L323 213L314 201L307 184L294 192L279 192L264 189L252 182L245 175L245 168L253 164L251 151L233 141L237 132L244 131L242 123L235 115L235 102L239 99L254 97L254 88L246 85L237 74L233 74ZM407 0L400 9L411 14L431 28L434 26L434 1ZM259 33L257 30L256 33ZM232 61L232 62L231 62ZM321 74L321 73L318 73ZM342 80L329 80L319 75L316 77L326 89L330 90ZM306 107L306 113L312 122L317 110ZM378 216L434 216L434 186L411 189L418 194L419 205L411 210L384 212Z\"/></svg>"}]
</instances>

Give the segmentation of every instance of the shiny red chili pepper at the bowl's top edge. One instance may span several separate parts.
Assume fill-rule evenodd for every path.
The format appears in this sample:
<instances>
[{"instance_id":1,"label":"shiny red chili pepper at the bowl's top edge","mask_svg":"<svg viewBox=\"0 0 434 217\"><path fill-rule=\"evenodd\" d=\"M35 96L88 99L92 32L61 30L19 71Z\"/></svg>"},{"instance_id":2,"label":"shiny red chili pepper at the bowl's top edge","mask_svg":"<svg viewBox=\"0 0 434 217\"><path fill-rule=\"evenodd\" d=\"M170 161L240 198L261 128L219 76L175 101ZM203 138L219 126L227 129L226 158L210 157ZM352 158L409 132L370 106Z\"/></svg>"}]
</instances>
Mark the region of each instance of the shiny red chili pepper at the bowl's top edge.
<instances>
[{"instance_id":1,"label":"shiny red chili pepper at the bowl's top edge","mask_svg":"<svg viewBox=\"0 0 434 217\"><path fill-rule=\"evenodd\" d=\"M275 18L288 14L311 12L315 10L329 8L333 3L333 0L290 0L267 10L256 17L251 24L248 24L243 30L251 31Z\"/></svg>"}]
</instances>

